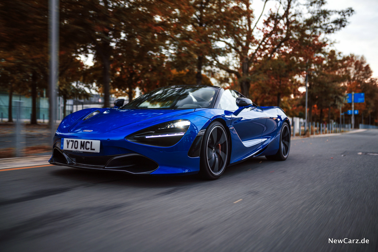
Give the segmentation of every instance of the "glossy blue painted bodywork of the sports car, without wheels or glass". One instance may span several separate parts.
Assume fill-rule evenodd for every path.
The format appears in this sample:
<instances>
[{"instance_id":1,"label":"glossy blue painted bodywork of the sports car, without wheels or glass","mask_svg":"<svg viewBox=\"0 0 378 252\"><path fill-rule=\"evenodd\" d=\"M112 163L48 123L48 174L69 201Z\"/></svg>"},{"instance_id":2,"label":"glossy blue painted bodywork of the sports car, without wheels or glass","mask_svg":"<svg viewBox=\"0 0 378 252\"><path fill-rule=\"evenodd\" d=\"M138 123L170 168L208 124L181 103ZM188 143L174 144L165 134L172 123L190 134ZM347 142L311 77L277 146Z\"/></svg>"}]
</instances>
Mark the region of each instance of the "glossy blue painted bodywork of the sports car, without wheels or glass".
<instances>
[{"instance_id":1,"label":"glossy blue painted bodywork of the sports car, without wheels or glass","mask_svg":"<svg viewBox=\"0 0 378 252\"><path fill-rule=\"evenodd\" d=\"M83 120L93 111L100 113ZM177 144L157 147L130 142L126 137L137 131L175 120L189 120L189 129ZM215 108L115 109L88 108L68 115L60 123L54 145L62 149L63 138L100 141L99 153L77 153L83 157L102 157L136 153L155 161L159 167L151 175L198 173L200 157L189 157L188 151L200 130L213 121L221 122L230 139L230 164L256 155L274 155L279 148L279 134L288 117L278 107L240 107L236 111ZM83 130L92 130L84 132ZM65 150L71 153L71 151Z\"/></svg>"}]
</instances>

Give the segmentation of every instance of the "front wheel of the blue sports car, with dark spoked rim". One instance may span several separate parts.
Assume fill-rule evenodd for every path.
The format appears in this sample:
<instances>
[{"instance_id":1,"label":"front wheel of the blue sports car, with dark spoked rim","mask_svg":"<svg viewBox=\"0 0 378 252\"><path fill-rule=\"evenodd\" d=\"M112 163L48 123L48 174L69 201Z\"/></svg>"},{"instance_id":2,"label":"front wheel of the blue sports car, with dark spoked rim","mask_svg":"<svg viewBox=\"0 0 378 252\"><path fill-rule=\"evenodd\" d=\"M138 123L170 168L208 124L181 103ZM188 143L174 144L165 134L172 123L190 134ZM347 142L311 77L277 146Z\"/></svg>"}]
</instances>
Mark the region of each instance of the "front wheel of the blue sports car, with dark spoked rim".
<instances>
[{"instance_id":1,"label":"front wheel of the blue sports car, with dark spoked rim","mask_svg":"<svg viewBox=\"0 0 378 252\"><path fill-rule=\"evenodd\" d=\"M229 141L220 122L212 122L206 129L201 148L200 175L204 179L219 178L226 169Z\"/></svg>"}]
</instances>

